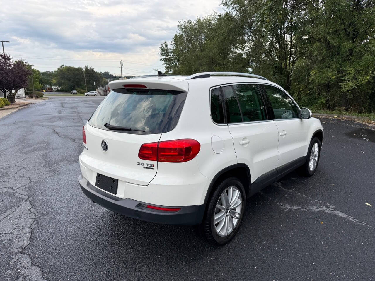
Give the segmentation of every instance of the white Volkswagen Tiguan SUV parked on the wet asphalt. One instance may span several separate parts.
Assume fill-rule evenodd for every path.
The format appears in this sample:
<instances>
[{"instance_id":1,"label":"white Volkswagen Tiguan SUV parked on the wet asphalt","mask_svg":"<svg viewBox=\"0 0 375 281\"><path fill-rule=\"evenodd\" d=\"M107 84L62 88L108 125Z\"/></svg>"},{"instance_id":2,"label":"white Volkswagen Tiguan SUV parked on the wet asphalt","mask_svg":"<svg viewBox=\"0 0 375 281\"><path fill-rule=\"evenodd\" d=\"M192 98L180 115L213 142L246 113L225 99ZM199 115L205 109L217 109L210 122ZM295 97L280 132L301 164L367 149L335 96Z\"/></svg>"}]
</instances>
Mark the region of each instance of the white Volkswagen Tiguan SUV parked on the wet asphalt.
<instances>
[{"instance_id":1,"label":"white Volkswagen Tiguan SUV parked on the wet asphalt","mask_svg":"<svg viewBox=\"0 0 375 281\"><path fill-rule=\"evenodd\" d=\"M320 121L261 76L148 75L109 87L83 127L78 181L112 211L197 225L208 242L225 244L246 198L294 169L317 169Z\"/></svg>"}]
</instances>

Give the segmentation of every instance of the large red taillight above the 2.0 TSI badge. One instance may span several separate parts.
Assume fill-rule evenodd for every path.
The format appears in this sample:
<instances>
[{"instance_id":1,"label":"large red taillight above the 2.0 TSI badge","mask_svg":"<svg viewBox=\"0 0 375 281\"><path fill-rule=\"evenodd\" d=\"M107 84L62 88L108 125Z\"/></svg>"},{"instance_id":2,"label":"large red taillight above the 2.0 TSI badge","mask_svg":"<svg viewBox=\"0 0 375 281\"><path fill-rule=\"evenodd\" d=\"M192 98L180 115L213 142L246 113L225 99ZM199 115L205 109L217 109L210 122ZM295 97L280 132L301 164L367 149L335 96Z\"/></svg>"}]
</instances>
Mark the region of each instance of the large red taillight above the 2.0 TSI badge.
<instances>
[{"instance_id":1,"label":"large red taillight above the 2.0 TSI badge","mask_svg":"<svg viewBox=\"0 0 375 281\"><path fill-rule=\"evenodd\" d=\"M142 144L138 157L144 160L181 163L192 160L201 149L194 139L175 139L173 141Z\"/></svg>"}]
</instances>

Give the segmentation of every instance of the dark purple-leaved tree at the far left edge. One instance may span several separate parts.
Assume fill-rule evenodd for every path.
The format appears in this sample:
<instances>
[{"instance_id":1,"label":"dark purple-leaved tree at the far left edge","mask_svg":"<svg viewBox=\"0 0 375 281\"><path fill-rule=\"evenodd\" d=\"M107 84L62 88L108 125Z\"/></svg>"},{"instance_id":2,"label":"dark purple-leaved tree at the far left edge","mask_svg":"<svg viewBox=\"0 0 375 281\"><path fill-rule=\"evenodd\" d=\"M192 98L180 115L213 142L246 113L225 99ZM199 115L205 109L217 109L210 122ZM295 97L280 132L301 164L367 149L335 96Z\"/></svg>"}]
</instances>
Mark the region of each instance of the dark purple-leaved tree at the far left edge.
<instances>
[{"instance_id":1,"label":"dark purple-leaved tree at the far left edge","mask_svg":"<svg viewBox=\"0 0 375 281\"><path fill-rule=\"evenodd\" d=\"M31 75L31 70L23 60L13 62L8 54L0 54L0 91L4 97L12 94L12 90L17 91L27 87L27 78Z\"/></svg>"}]
</instances>

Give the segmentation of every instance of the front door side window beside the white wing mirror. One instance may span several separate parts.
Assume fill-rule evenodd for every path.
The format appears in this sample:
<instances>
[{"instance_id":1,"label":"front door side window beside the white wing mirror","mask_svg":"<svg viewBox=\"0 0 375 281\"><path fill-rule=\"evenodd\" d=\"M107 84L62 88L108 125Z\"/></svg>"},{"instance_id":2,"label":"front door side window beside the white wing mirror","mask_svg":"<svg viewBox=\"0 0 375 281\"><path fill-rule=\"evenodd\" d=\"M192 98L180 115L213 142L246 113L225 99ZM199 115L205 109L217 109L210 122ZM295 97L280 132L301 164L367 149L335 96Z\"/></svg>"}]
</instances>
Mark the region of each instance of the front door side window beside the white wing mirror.
<instances>
[{"instance_id":1,"label":"front door side window beside the white wing mirror","mask_svg":"<svg viewBox=\"0 0 375 281\"><path fill-rule=\"evenodd\" d=\"M270 99L275 119L298 118L298 109L293 100L284 91L271 85L263 85Z\"/></svg>"}]
</instances>

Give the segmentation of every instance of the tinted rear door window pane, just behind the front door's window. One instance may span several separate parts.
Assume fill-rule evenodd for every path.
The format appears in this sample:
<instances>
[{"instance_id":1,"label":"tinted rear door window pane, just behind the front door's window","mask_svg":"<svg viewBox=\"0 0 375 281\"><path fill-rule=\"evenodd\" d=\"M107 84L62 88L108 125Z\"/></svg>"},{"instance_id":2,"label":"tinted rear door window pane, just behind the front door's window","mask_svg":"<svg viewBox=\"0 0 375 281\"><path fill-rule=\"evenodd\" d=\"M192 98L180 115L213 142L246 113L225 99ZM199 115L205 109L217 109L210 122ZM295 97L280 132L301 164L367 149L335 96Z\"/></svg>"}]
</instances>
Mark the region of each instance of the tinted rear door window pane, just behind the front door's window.
<instances>
[{"instance_id":1,"label":"tinted rear door window pane, just behind the front door's window","mask_svg":"<svg viewBox=\"0 0 375 281\"><path fill-rule=\"evenodd\" d=\"M233 90L241 107L243 122L267 120L266 107L258 85L234 85Z\"/></svg>"}]
</instances>

